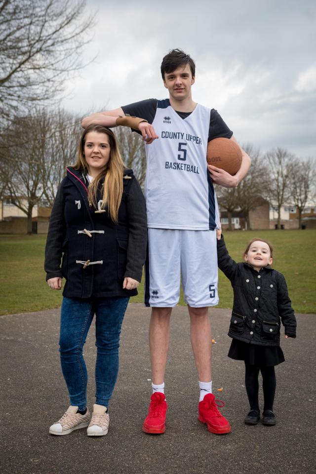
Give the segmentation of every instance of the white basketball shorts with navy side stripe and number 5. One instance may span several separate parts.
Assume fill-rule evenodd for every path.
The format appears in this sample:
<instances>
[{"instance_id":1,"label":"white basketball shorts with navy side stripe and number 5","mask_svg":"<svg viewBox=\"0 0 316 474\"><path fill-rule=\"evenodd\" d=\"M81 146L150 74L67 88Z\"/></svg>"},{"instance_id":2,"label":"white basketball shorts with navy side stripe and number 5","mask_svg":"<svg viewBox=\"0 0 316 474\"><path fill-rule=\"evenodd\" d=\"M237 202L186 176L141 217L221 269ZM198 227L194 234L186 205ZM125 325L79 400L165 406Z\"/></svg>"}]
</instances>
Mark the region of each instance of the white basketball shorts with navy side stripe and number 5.
<instances>
[{"instance_id":1,"label":"white basketball shorts with navy side stripe and number 5","mask_svg":"<svg viewBox=\"0 0 316 474\"><path fill-rule=\"evenodd\" d=\"M216 247L216 230L148 229L145 306L176 306L180 274L188 305L193 308L217 305Z\"/></svg>"}]
</instances>

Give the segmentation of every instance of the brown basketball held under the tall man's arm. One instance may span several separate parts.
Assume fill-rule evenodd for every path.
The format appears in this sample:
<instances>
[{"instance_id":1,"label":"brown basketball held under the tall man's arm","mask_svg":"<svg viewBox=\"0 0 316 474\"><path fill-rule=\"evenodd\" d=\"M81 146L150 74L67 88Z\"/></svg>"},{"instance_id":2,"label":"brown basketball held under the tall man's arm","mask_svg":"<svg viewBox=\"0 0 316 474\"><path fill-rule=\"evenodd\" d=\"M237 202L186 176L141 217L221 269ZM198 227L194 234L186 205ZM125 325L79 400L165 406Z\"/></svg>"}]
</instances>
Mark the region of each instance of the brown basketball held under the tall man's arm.
<instances>
[{"instance_id":1,"label":"brown basketball held under the tall man's arm","mask_svg":"<svg viewBox=\"0 0 316 474\"><path fill-rule=\"evenodd\" d=\"M242 161L241 150L229 138L214 138L207 144L206 160L229 174L236 174Z\"/></svg>"}]
</instances>

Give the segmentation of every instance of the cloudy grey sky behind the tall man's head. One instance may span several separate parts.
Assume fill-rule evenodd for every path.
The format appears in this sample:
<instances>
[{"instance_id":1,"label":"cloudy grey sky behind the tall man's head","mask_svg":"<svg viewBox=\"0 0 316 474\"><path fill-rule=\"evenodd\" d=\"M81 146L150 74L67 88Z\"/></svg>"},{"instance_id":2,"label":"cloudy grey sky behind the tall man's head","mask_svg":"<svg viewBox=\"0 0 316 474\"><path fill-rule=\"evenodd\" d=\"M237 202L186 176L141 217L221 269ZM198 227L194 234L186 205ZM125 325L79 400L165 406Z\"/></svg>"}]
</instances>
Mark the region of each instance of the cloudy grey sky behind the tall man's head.
<instances>
[{"instance_id":1,"label":"cloudy grey sky behind the tall man's head","mask_svg":"<svg viewBox=\"0 0 316 474\"><path fill-rule=\"evenodd\" d=\"M196 61L193 99L219 111L240 144L316 158L316 2L87 0L97 55L68 83L66 109L167 97L162 57Z\"/></svg>"}]
</instances>

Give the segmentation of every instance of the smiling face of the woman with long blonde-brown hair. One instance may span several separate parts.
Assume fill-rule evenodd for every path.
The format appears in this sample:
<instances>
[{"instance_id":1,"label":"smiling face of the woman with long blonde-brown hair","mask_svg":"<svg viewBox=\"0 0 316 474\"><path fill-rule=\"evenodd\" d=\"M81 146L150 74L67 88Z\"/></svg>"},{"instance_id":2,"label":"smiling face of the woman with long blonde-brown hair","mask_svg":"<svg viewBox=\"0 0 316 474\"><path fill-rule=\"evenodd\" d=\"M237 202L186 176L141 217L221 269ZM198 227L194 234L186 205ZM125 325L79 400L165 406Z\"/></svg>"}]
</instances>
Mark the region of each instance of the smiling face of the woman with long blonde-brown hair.
<instances>
[{"instance_id":1,"label":"smiling face of the woman with long blonde-brown hair","mask_svg":"<svg viewBox=\"0 0 316 474\"><path fill-rule=\"evenodd\" d=\"M89 167L89 174L95 178L107 167L111 146L106 133L88 132L85 136L84 156Z\"/></svg>"}]
</instances>

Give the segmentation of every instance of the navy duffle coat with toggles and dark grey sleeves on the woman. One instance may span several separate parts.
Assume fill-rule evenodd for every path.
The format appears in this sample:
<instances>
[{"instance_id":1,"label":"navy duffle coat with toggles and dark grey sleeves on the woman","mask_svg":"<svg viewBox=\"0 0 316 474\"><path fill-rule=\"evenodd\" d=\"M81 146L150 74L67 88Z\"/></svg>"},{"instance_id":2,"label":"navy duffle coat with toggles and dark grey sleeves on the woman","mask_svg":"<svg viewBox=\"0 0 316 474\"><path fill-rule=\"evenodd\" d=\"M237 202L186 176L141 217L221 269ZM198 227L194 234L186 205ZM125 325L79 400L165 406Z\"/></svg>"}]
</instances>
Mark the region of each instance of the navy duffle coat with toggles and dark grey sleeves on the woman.
<instances>
[{"instance_id":1,"label":"navy duffle coat with toggles and dark grey sleeves on the woman","mask_svg":"<svg viewBox=\"0 0 316 474\"><path fill-rule=\"evenodd\" d=\"M49 222L46 280L63 276L63 295L71 298L136 295L136 289L125 290L122 284L125 276L141 280L146 258L146 205L140 186L133 171L125 169L118 224L107 210L96 212L100 209L89 204L87 186L80 170L67 168ZM101 199L100 190L97 201Z\"/></svg>"}]
</instances>

